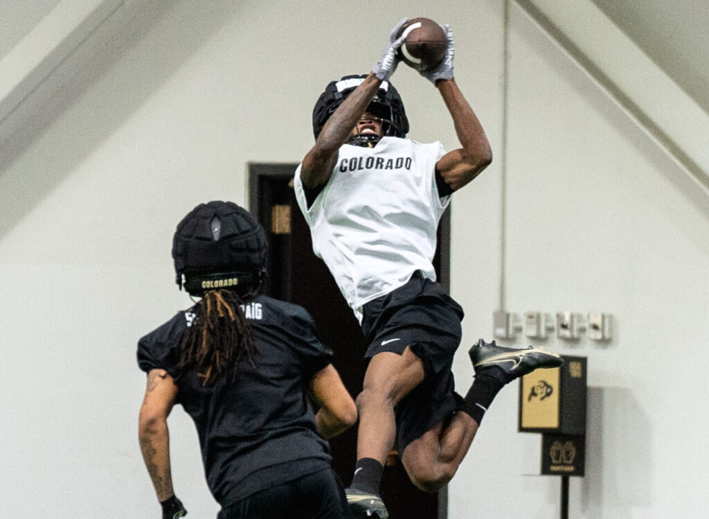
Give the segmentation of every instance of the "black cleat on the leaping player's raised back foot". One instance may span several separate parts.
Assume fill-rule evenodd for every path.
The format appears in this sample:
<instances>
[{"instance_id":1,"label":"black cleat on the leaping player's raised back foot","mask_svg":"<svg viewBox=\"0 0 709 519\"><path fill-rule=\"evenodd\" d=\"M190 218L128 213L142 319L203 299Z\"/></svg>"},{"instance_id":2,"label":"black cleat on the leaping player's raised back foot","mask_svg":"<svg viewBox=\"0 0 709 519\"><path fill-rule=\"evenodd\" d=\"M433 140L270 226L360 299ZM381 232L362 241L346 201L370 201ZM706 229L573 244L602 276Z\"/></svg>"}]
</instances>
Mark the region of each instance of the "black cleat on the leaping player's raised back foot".
<instances>
[{"instance_id":1,"label":"black cleat on the leaping player's raised back foot","mask_svg":"<svg viewBox=\"0 0 709 519\"><path fill-rule=\"evenodd\" d=\"M522 349L505 348L498 346L494 341L487 344L483 339L473 344L468 354L473 361L475 373L496 366L503 371L506 383L535 369L558 368L564 364L559 354L550 351L533 346Z\"/></svg>"}]
</instances>

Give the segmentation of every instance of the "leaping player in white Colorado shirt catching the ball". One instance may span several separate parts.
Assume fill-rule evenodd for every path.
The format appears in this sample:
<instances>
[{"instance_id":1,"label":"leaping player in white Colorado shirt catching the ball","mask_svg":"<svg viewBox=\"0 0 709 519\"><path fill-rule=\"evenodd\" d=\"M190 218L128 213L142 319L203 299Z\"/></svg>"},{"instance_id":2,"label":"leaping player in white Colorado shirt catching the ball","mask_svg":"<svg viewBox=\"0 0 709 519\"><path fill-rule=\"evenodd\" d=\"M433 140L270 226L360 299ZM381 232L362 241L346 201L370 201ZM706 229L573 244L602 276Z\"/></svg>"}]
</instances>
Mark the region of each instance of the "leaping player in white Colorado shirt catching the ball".
<instances>
[{"instance_id":1,"label":"leaping player in white Colorado shirt catching the ball","mask_svg":"<svg viewBox=\"0 0 709 519\"><path fill-rule=\"evenodd\" d=\"M439 219L453 192L492 160L485 132L453 77L454 46L420 72L447 106L461 147L406 138L408 119L389 83L401 21L372 72L328 84L313 110L316 143L295 175L313 250L333 273L369 341L357 397L357 464L347 498L354 517L388 517L379 496L384 461L396 447L423 491L447 484L467 453L496 393L557 354L510 349L482 339L469 351L475 378L454 391L451 366L462 308L435 282Z\"/></svg>"}]
</instances>

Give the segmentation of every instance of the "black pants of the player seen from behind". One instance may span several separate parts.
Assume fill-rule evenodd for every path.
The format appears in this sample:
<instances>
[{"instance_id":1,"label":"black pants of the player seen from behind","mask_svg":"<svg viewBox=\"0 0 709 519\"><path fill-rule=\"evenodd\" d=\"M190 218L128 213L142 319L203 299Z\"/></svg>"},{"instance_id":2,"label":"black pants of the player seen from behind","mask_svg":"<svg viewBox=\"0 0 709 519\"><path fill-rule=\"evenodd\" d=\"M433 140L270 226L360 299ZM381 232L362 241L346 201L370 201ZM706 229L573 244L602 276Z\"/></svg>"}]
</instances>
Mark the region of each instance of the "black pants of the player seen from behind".
<instances>
[{"instance_id":1,"label":"black pants of the player seen from behind","mask_svg":"<svg viewBox=\"0 0 709 519\"><path fill-rule=\"evenodd\" d=\"M314 472L225 506L217 519L350 518L345 491L332 469Z\"/></svg>"}]
</instances>

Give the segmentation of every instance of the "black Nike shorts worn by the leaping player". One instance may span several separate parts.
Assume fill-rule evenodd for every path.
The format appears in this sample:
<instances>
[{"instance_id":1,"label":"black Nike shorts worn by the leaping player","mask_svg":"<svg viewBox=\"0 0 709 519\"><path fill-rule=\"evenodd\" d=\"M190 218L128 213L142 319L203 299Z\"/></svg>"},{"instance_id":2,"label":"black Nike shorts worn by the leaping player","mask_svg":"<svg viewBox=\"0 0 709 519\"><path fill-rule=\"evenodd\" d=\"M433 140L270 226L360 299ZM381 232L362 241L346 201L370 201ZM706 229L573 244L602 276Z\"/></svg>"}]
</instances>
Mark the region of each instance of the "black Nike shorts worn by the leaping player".
<instances>
[{"instance_id":1,"label":"black Nike shorts worn by the leaping player","mask_svg":"<svg viewBox=\"0 0 709 519\"><path fill-rule=\"evenodd\" d=\"M366 359L382 351L402 354L406 346L423 361L425 378L396 405L399 455L414 439L457 410L451 367L462 337L462 307L445 289L420 272L391 293L364 305L362 331Z\"/></svg>"}]
</instances>

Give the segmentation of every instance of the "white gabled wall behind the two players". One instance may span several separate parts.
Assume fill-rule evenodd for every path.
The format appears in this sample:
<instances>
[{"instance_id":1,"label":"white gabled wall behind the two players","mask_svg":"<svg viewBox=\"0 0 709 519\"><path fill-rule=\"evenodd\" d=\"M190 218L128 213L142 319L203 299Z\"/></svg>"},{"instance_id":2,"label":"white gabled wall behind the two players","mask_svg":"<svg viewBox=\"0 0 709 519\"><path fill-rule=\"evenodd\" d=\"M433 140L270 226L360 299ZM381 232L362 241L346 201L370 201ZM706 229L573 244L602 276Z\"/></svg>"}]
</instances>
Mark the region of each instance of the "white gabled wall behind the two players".
<instances>
[{"instance_id":1,"label":"white gabled wall behind the two players","mask_svg":"<svg viewBox=\"0 0 709 519\"><path fill-rule=\"evenodd\" d=\"M496 153L454 197L459 390L467 347L491 337L500 300L505 173L508 310L616 319L605 346L547 342L588 356L588 461L572 517L700 517L709 210L644 133L513 9L503 172L498 0L197 4L175 2L103 75L70 84L82 94L0 163L6 515L157 514L137 442L135 342L190 304L173 285L174 226L199 202L245 204L248 162L300 160L325 84L369 70L402 16L430 16L452 24L457 81ZM404 67L394 82L410 136L457 146L435 89ZM516 397L503 391L486 417L450 485L451 519L558 515L558 479L530 475L540 437L516 432ZM194 426L179 408L169 425L177 494L192 517L213 516Z\"/></svg>"}]
</instances>

